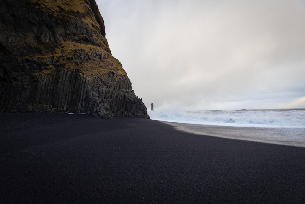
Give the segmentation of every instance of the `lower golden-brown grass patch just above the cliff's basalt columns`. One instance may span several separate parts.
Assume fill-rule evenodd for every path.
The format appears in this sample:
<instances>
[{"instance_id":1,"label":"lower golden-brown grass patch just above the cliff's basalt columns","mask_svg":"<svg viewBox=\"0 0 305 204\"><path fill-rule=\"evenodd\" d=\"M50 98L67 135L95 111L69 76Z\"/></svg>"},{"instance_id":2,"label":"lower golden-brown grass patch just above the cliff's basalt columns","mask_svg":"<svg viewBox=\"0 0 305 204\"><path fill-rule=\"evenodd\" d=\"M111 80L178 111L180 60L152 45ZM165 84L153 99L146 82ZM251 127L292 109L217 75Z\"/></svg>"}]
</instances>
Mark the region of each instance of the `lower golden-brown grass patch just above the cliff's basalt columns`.
<instances>
[{"instance_id":1,"label":"lower golden-brown grass patch just above the cliff's basalt columns","mask_svg":"<svg viewBox=\"0 0 305 204\"><path fill-rule=\"evenodd\" d=\"M35 73L39 74L48 74L54 72L56 68L58 69L79 69L87 76L97 76L102 74L106 76L110 70L115 72L117 75L126 75L125 70L122 68L120 61L111 56L108 52L101 49L100 47L93 45L86 45L75 42L62 42L57 46L52 52L46 52L43 49L43 46L38 46L41 49L42 54L40 55L31 55L25 58L36 58L38 61L43 62L48 66L48 69L43 70L42 72ZM89 53L95 52L98 50L106 55L106 59L93 58L85 62L76 62L74 56L79 50L85 50ZM80 53L80 52L79 52ZM49 64L48 59L55 61L55 64Z\"/></svg>"}]
</instances>

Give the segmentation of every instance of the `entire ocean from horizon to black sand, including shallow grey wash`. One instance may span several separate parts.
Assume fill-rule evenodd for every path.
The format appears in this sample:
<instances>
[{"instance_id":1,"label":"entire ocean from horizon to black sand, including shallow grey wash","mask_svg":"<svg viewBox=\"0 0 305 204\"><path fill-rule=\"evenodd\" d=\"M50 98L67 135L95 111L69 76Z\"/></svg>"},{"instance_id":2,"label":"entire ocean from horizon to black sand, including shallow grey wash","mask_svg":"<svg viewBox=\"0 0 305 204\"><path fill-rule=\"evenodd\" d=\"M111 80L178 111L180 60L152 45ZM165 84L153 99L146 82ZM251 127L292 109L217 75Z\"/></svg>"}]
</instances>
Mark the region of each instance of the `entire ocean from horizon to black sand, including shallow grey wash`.
<instances>
[{"instance_id":1,"label":"entire ocean from horizon to black sand, including shallow grey wash","mask_svg":"<svg viewBox=\"0 0 305 204\"><path fill-rule=\"evenodd\" d=\"M305 109L149 111L152 120L200 135L305 147ZM177 124L173 124L177 123Z\"/></svg>"}]
</instances>

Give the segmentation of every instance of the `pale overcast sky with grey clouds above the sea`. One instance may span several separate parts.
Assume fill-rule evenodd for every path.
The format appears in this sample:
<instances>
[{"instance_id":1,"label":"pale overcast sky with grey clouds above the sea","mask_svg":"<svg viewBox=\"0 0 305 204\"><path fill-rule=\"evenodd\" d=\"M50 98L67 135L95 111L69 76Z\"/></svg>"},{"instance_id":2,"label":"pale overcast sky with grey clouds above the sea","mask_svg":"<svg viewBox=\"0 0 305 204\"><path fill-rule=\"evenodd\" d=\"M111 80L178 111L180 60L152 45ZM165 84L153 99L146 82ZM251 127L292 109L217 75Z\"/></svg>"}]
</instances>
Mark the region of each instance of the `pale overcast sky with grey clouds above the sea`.
<instances>
[{"instance_id":1,"label":"pale overcast sky with grey clouds above the sea","mask_svg":"<svg viewBox=\"0 0 305 204\"><path fill-rule=\"evenodd\" d=\"M96 0L154 109L305 108L304 0Z\"/></svg>"}]
</instances>

